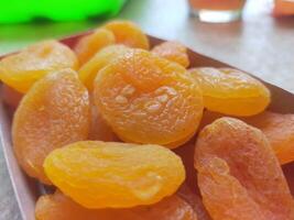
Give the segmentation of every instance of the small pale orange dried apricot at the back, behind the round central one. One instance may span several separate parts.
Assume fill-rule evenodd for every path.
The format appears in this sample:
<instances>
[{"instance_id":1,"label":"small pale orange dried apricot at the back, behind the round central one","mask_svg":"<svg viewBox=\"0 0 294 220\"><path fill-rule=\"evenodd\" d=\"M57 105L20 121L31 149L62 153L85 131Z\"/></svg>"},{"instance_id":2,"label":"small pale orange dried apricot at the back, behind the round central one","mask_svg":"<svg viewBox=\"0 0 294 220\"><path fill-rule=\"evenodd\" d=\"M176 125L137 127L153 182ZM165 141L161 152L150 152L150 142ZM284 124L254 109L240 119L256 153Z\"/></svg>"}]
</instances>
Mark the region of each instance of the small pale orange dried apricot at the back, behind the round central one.
<instances>
[{"instance_id":1,"label":"small pale orange dried apricot at the back, behind the round central one","mask_svg":"<svg viewBox=\"0 0 294 220\"><path fill-rule=\"evenodd\" d=\"M178 42L161 43L154 46L152 52L184 67L189 65L187 48Z\"/></svg>"}]
</instances>

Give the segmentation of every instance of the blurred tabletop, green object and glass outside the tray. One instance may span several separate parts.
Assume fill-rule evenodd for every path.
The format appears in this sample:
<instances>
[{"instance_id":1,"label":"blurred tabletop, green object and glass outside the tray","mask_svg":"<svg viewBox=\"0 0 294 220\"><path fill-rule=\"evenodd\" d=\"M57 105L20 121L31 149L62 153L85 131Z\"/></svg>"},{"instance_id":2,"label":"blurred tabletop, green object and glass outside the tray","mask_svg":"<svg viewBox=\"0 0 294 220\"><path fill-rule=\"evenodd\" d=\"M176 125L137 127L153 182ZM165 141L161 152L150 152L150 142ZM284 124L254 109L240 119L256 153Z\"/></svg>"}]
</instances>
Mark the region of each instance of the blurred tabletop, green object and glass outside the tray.
<instances>
[{"instance_id":1,"label":"blurred tabletop, green object and glass outside the tray","mask_svg":"<svg viewBox=\"0 0 294 220\"><path fill-rule=\"evenodd\" d=\"M294 92L294 0L2 0L0 55L110 19L176 40ZM19 220L0 154L0 219Z\"/></svg>"}]
</instances>

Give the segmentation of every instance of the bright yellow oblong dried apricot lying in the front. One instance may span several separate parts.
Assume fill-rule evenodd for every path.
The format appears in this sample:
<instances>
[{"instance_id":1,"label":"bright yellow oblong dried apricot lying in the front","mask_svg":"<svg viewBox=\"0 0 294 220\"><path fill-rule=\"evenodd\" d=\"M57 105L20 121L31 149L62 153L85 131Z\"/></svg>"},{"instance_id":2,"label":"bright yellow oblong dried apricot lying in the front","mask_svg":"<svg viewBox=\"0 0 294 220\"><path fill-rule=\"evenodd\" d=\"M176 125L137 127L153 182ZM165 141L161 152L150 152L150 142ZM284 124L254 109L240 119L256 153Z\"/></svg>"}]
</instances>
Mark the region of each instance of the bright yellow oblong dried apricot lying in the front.
<instances>
[{"instance_id":1,"label":"bright yellow oblong dried apricot lying in the front","mask_svg":"<svg viewBox=\"0 0 294 220\"><path fill-rule=\"evenodd\" d=\"M181 158L160 145L76 142L53 151L44 168L55 186L87 208L155 204L185 179Z\"/></svg>"}]
</instances>

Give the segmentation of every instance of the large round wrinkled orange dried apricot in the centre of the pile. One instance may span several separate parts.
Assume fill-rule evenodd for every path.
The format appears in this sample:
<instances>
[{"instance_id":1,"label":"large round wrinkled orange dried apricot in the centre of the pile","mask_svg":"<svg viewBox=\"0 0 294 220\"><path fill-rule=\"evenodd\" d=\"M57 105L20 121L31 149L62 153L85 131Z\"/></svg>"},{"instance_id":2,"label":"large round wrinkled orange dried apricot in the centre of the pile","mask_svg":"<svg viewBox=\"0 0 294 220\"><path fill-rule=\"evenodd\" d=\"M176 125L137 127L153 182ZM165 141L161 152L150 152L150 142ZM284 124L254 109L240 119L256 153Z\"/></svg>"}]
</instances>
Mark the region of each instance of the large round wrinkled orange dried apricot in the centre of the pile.
<instances>
[{"instance_id":1,"label":"large round wrinkled orange dried apricot in the centre of the pile","mask_svg":"<svg viewBox=\"0 0 294 220\"><path fill-rule=\"evenodd\" d=\"M126 142L176 147L194 135L203 113L202 91L186 69L143 50L101 69L94 98Z\"/></svg>"}]
</instances>

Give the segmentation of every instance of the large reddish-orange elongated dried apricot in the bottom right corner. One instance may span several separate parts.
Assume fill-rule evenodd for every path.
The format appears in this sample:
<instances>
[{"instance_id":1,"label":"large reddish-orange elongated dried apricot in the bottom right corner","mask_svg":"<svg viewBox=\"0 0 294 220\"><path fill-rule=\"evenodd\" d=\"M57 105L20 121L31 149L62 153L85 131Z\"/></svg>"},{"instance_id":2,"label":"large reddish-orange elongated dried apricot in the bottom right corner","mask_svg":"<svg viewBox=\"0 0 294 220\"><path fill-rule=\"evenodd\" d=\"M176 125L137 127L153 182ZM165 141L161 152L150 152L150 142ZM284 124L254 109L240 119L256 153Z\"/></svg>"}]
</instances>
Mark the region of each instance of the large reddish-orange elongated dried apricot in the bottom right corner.
<instances>
[{"instance_id":1,"label":"large reddish-orange elongated dried apricot in the bottom right corner","mask_svg":"<svg viewBox=\"0 0 294 220\"><path fill-rule=\"evenodd\" d=\"M265 135L221 118L199 134L195 167L213 219L294 219L294 201Z\"/></svg>"}]
</instances>

